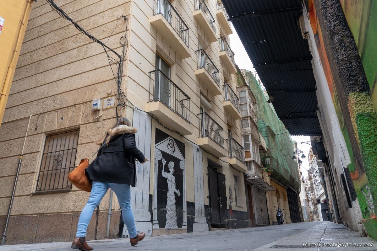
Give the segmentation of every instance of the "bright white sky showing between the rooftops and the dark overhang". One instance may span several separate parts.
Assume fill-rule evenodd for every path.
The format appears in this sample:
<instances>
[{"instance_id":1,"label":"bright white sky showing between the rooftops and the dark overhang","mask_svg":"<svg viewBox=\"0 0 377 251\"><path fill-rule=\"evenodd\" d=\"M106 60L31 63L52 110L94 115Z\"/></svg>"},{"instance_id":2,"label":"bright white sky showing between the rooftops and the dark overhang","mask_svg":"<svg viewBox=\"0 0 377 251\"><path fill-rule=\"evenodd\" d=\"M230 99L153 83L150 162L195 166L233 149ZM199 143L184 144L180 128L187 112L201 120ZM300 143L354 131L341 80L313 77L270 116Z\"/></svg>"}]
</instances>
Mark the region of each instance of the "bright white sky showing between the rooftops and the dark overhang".
<instances>
[{"instance_id":1,"label":"bright white sky showing between the rooftops and the dark overhang","mask_svg":"<svg viewBox=\"0 0 377 251\"><path fill-rule=\"evenodd\" d=\"M236 61L236 64L240 69L246 69L249 71L255 71L253 68L253 63L250 61L249 56L246 53L246 50L241 43L241 40L238 37L238 34L236 30L234 30L234 27L232 26L233 34L230 35L230 47L234 52L234 60ZM303 177L308 176L307 170L309 169L309 162L308 162L308 154L310 151L310 145L300 142L308 142L310 143L310 137L309 136L292 136L292 140L297 142L297 148L303 151L304 155L306 156L305 159L303 159L303 163L301 164L301 171Z\"/></svg>"}]
</instances>

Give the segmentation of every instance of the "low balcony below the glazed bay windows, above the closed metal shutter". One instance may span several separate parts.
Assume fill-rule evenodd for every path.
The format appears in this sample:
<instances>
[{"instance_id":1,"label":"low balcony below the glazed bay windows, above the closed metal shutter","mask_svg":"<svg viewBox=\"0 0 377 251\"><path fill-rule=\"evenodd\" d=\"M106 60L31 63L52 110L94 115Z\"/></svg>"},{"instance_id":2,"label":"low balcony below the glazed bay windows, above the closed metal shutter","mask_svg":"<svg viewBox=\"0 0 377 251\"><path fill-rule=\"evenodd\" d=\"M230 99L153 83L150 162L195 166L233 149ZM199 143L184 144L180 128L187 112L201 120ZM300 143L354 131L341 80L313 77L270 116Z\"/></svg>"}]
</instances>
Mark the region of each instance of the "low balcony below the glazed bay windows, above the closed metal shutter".
<instances>
[{"instance_id":1,"label":"low balcony below the glazed bay windows, above the closed metal shutter","mask_svg":"<svg viewBox=\"0 0 377 251\"><path fill-rule=\"evenodd\" d=\"M253 184L264 191L274 191L275 189L271 186L270 176L264 172L255 161L250 161L246 163L247 172L245 172L245 180L248 183Z\"/></svg>"}]
</instances>

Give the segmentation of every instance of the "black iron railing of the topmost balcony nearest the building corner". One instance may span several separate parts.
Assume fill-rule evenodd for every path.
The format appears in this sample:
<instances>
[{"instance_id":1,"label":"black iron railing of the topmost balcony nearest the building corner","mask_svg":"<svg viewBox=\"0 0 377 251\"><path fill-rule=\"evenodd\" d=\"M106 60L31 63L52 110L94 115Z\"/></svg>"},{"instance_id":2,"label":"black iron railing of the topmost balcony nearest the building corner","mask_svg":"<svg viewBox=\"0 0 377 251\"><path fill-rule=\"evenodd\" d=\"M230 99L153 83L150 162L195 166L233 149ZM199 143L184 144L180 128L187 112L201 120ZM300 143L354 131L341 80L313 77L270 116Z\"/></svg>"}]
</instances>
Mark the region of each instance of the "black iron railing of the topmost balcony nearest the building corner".
<instances>
[{"instance_id":1,"label":"black iron railing of the topmost balcony nearest the building corner","mask_svg":"<svg viewBox=\"0 0 377 251\"><path fill-rule=\"evenodd\" d=\"M173 30L182 39L183 43L189 47L189 27L185 24L181 16L170 4L169 0L154 0L153 15L161 14L172 26Z\"/></svg>"}]
</instances>

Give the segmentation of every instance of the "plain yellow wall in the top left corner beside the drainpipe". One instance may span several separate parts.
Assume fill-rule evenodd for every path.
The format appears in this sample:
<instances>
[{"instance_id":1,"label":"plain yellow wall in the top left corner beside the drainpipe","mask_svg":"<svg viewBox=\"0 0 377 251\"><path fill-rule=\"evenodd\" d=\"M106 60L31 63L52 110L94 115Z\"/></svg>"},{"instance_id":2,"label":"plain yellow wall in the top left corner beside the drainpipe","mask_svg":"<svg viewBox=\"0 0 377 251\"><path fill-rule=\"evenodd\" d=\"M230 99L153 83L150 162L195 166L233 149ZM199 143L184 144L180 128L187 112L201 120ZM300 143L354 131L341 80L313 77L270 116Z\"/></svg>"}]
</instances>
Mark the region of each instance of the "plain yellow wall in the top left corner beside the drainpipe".
<instances>
[{"instance_id":1,"label":"plain yellow wall in the top left corner beside the drainpipe","mask_svg":"<svg viewBox=\"0 0 377 251\"><path fill-rule=\"evenodd\" d=\"M12 60L12 52L15 48L15 44L17 43L18 33L20 31L20 20L23 19L23 13L25 12L27 2L27 0L0 0L0 17L4 18L3 29L0 34L0 92L3 91L6 72L8 70L9 63ZM29 14L30 11L27 15L29 16ZM26 20L28 19L29 18L27 17ZM20 47L21 44L19 48ZM17 58L15 60L16 62L19 53L20 50L18 50ZM0 125L2 120L1 115L4 108L5 107L0 107Z\"/></svg>"}]
</instances>

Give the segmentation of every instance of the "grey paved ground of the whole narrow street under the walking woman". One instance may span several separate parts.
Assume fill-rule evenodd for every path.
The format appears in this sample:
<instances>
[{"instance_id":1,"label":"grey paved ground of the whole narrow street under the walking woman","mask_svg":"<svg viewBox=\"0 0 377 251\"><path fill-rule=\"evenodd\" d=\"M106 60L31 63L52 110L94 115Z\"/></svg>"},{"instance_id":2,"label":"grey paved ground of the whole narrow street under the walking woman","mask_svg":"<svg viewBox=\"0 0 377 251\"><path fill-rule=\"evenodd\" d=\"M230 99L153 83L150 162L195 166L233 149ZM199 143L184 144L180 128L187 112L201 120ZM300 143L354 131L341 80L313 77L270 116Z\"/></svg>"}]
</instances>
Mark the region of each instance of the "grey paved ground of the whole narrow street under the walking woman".
<instances>
[{"instance_id":1,"label":"grey paved ground of the whole narrow street under the walking woman","mask_svg":"<svg viewBox=\"0 0 377 251\"><path fill-rule=\"evenodd\" d=\"M302 243L317 245L302 247ZM273 251L273 250L377 250L377 242L369 237L360 237L357 232L332 222L301 222L265 227L217 230L201 233L172 234L146 237L137 246L131 247L128 239L89 241L94 250L165 250L165 251ZM370 247L336 247L336 243L366 243ZM70 242L7 245L0 251L69 251ZM310 245L310 244L309 244Z\"/></svg>"}]
</instances>

